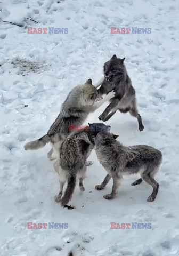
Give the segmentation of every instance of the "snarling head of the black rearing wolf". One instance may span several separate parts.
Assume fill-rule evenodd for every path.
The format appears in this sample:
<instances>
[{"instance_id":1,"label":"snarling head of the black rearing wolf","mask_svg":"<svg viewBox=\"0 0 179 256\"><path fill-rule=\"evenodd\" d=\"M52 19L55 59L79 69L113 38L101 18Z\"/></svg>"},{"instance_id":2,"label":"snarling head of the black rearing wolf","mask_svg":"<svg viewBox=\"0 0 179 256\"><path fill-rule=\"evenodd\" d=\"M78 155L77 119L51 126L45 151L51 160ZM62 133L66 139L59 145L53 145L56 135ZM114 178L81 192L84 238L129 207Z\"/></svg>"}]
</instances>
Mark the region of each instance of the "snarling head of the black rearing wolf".
<instances>
[{"instance_id":1,"label":"snarling head of the black rearing wolf","mask_svg":"<svg viewBox=\"0 0 179 256\"><path fill-rule=\"evenodd\" d=\"M105 81L107 82L119 82L124 74L126 73L126 68L124 65L124 59L117 58L113 55L112 58L104 63L103 71Z\"/></svg>"}]
</instances>

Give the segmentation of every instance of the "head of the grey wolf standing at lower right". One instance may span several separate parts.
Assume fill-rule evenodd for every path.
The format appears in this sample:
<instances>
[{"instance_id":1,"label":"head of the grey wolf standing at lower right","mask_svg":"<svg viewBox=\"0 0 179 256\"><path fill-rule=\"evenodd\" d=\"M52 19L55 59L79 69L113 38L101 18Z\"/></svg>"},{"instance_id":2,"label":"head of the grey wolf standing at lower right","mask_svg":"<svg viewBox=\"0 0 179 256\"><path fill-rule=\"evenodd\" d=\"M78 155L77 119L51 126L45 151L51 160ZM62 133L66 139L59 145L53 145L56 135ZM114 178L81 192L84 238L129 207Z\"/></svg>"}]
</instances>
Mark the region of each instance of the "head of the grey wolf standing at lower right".
<instances>
[{"instance_id":1,"label":"head of the grey wolf standing at lower right","mask_svg":"<svg viewBox=\"0 0 179 256\"><path fill-rule=\"evenodd\" d=\"M115 135L110 132L99 132L95 139L96 146L109 145L114 142L119 135Z\"/></svg>"}]
</instances>

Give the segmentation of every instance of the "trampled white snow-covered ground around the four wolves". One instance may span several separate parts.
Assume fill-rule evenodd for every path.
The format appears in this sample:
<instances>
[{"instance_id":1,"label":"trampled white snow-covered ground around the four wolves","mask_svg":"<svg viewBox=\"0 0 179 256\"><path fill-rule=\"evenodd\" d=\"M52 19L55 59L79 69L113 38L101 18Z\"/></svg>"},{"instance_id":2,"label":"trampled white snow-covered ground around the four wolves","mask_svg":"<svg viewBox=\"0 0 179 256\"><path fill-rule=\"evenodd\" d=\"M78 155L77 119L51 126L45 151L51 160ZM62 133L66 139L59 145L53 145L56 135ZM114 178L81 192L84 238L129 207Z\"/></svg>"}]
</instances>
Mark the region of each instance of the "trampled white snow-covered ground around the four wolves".
<instances>
[{"instance_id":1,"label":"trampled white snow-covered ground around the four wolves","mask_svg":"<svg viewBox=\"0 0 179 256\"><path fill-rule=\"evenodd\" d=\"M178 1L154 0L3 0L0 17L0 232L4 256L168 256L179 255L178 225ZM35 23L31 17L39 23ZM26 20L24 20L26 19ZM68 28L68 34L27 34L27 27ZM151 34L110 34L110 27L151 28ZM77 84L102 76L113 54L125 63L136 89L145 130L130 115L117 113L107 124L125 145L147 144L162 151L151 187L127 177L115 199L96 191L106 172L90 156L85 192L76 187L70 202L54 202L59 182L46 153L25 151L40 138ZM25 105L28 105L25 107ZM89 116L97 122L104 106ZM68 223L68 229L27 229L27 222ZM151 229L110 229L110 222L151 223Z\"/></svg>"}]
</instances>

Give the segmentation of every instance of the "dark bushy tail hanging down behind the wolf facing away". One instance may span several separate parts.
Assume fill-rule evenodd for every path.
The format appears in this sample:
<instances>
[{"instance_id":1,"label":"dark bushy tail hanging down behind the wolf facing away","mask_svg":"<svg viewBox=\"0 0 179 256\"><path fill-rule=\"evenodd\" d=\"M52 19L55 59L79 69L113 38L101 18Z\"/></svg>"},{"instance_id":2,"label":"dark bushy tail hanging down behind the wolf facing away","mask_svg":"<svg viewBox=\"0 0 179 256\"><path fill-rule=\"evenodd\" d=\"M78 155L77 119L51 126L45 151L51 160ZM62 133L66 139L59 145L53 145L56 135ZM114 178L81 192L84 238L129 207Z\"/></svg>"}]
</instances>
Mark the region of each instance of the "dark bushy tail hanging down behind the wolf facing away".
<instances>
[{"instance_id":1,"label":"dark bushy tail hanging down behind the wolf facing away","mask_svg":"<svg viewBox=\"0 0 179 256\"><path fill-rule=\"evenodd\" d=\"M74 193L75 185L76 185L76 175L70 175L70 177L68 178L66 191L64 192L64 195L61 198L61 206L68 204L68 202L72 197L72 194Z\"/></svg>"}]
</instances>

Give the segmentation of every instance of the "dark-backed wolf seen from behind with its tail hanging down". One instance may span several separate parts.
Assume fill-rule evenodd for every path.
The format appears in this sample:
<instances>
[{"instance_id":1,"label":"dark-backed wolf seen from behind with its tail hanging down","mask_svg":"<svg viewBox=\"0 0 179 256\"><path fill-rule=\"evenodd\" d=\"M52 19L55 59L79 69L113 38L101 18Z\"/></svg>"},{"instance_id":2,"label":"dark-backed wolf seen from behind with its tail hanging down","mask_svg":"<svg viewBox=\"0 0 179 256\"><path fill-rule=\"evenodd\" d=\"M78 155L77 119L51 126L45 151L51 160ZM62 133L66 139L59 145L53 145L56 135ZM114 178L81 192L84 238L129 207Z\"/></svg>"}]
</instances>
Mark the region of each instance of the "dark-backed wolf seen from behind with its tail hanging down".
<instances>
[{"instance_id":1,"label":"dark-backed wolf seen from behind with its tail hanging down","mask_svg":"<svg viewBox=\"0 0 179 256\"><path fill-rule=\"evenodd\" d=\"M94 130L94 127L97 129ZM100 129L99 129L100 128ZM62 206L68 204L74 192L76 179L79 179L80 191L84 191L83 180L86 173L86 159L94 148L94 138L100 131L110 131L110 126L102 123L89 124L89 129L72 132L60 146L59 158L54 163L54 169L59 175L60 191L55 196L56 202ZM63 193L63 186L67 181L67 188ZM62 197L62 198L61 198ZM71 209L71 208L70 208Z\"/></svg>"}]
</instances>

